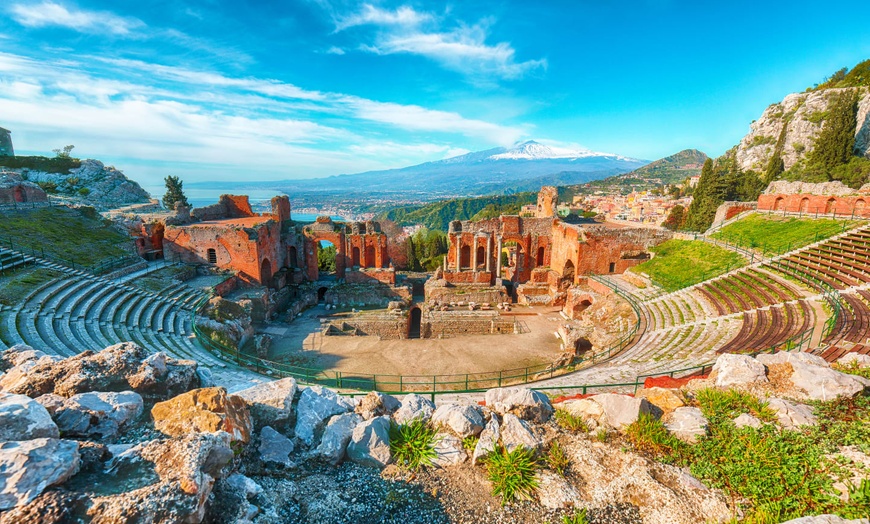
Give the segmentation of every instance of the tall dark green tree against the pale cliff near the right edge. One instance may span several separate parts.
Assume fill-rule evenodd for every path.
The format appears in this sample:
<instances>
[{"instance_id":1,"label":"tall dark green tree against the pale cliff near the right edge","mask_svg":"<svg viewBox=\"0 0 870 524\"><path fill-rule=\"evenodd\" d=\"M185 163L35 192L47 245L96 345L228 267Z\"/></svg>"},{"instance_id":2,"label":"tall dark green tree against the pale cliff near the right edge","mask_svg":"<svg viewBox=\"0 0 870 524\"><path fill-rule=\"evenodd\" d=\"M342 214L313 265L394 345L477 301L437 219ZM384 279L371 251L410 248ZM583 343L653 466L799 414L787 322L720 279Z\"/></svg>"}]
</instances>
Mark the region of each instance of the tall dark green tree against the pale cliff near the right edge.
<instances>
[{"instance_id":1,"label":"tall dark green tree against the pale cliff near the right edge","mask_svg":"<svg viewBox=\"0 0 870 524\"><path fill-rule=\"evenodd\" d=\"M858 96L854 90L842 92L831 103L828 118L808 155L808 163L830 172L849 162L855 151L855 128L858 126Z\"/></svg>"}]
</instances>

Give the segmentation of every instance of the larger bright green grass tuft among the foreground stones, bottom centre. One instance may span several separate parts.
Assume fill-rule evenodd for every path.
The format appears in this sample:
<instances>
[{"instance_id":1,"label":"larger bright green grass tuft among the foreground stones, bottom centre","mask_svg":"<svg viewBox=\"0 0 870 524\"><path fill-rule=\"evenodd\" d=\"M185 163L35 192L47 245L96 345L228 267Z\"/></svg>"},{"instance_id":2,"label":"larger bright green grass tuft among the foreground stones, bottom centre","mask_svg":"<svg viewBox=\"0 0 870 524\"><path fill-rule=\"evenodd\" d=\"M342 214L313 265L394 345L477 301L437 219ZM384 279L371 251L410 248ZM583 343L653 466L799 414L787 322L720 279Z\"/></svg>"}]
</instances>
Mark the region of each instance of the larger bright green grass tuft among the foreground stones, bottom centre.
<instances>
[{"instance_id":1,"label":"larger bright green grass tuft among the foreground stones, bottom centre","mask_svg":"<svg viewBox=\"0 0 870 524\"><path fill-rule=\"evenodd\" d=\"M486 459L492 494L501 497L502 504L517 499L531 500L538 488L537 467L534 450L520 446L508 452L503 446L498 446Z\"/></svg>"}]
</instances>

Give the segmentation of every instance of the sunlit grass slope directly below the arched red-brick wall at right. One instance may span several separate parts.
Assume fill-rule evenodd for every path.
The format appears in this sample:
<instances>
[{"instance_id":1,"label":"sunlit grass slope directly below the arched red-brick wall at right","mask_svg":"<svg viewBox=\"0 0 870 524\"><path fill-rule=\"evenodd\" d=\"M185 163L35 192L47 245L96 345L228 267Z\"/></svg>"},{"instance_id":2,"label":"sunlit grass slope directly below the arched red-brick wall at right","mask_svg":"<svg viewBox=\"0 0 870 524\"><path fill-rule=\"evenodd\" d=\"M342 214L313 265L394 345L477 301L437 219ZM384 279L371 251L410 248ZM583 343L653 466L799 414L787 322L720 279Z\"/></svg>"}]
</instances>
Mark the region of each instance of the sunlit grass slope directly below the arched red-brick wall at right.
<instances>
[{"instance_id":1,"label":"sunlit grass slope directly below the arched red-brick wall at right","mask_svg":"<svg viewBox=\"0 0 870 524\"><path fill-rule=\"evenodd\" d=\"M739 246L781 254L857 227L856 220L800 219L753 214L711 236Z\"/></svg>"}]
</instances>

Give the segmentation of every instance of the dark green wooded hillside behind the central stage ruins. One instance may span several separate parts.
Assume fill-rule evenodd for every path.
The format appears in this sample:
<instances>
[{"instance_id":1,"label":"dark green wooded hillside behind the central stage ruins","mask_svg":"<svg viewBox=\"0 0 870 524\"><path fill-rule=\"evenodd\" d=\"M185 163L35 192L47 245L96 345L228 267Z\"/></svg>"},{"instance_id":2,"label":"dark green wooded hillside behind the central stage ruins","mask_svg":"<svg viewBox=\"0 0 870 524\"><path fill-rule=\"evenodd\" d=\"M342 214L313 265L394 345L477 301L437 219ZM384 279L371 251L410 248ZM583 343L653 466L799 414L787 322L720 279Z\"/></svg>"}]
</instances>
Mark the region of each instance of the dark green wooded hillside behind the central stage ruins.
<instances>
[{"instance_id":1,"label":"dark green wooded hillside behind the central stage ruins","mask_svg":"<svg viewBox=\"0 0 870 524\"><path fill-rule=\"evenodd\" d=\"M532 204L536 193L518 193L507 196L479 198L455 198L433 202L423 206L403 206L392 209L379 219L387 219L401 225L423 224L429 229L447 231L453 220L493 218L499 215L516 215L520 207Z\"/></svg>"}]
</instances>

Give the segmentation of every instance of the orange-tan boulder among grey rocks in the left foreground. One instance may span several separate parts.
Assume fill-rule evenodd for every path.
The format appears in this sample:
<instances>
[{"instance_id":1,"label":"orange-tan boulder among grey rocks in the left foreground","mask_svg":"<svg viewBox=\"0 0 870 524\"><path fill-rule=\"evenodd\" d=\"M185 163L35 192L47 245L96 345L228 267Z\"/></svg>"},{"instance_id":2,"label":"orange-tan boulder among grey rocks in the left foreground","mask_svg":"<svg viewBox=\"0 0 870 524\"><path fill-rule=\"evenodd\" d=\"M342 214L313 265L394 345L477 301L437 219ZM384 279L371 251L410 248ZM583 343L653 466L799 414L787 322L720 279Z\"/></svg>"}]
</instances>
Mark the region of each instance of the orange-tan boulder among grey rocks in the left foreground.
<instances>
[{"instance_id":1,"label":"orange-tan boulder among grey rocks in the left foreground","mask_svg":"<svg viewBox=\"0 0 870 524\"><path fill-rule=\"evenodd\" d=\"M251 440L251 415L245 401L224 388L203 388L158 402L151 408L154 427L171 437L225 431L233 441Z\"/></svg>"}]
</instances>

